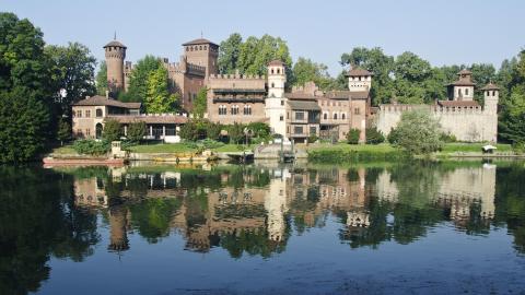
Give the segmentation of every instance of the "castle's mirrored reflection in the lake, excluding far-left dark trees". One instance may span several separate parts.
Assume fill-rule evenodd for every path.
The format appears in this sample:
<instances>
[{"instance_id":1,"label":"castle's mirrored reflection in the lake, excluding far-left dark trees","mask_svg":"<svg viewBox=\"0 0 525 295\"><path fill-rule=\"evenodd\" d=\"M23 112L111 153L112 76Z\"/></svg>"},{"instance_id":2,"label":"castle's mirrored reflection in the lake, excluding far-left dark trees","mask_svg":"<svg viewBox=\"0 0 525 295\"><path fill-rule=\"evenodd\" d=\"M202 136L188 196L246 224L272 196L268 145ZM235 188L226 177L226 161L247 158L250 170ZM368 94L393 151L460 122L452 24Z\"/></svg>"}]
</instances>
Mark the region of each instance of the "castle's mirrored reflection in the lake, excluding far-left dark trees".
<instances>
[{"instance_id":1,"label":"castle's mirrored reflection in the lake, excluding far-left dark trees","mask_svg":"<svg viewBox=\"0 0 525 295\"><path fill-rule=\"evenodd\" d=\"M323 227L327 217L351 247L411 243L440 224L488 233L495 172L490 164L139 166L75 177L74 196L75 205L104 213L112 251L132 247L133 231L150 243L178 234L194 251L268 257L293 231Z\"/></svg>"}]
</instances>

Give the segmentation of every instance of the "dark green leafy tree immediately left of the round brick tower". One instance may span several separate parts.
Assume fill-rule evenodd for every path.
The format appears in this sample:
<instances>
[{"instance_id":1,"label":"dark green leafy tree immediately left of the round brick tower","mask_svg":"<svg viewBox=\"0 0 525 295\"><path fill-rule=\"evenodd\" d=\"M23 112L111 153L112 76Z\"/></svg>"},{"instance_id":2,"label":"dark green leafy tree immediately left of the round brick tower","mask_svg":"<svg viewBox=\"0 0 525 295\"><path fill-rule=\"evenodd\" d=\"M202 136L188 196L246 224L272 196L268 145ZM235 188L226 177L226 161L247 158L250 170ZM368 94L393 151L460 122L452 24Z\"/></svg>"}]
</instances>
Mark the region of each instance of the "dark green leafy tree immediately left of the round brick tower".
<instances>
[{"instance_id":1,"label":"dark green leafy tree immediately left of the round brick tower","mask_svg":"<svg viewBox=\"0 0 525 295\"><path fill-rule=\"evenodd\" d=\"M69 43L68 46L48 45L44 52L50 63L55 102L59 102L60 114L70 117L72 103L96 93L96 59L86 46L79 43Z\"/></svg>"}]
</instances>

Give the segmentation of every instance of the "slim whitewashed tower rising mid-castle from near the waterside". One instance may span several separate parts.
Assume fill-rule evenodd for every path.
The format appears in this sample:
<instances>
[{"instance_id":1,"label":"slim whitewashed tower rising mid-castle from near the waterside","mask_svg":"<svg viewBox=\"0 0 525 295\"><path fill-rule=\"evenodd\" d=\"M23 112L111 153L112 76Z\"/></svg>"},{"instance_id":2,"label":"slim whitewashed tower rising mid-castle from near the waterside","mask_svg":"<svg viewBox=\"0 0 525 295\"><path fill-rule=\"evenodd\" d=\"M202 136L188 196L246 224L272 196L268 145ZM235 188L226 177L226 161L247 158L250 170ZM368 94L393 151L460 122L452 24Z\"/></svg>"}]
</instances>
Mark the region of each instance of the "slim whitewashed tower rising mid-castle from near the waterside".
<instances>
[{"instance_id":1,"label":"slim whitewashed tower rising mid-castle from near the waterside","mask_svg":"<svg viewBox=\"0 0 525 295\"><path fill-rule=\"evenodd\" d=\"M283 137L287 134L284 83L287 83L284 63L280 60L270 61L268 63L268 97L265 101L265 113L270 120L272 132Z\"/></svg>"}]
</instances>

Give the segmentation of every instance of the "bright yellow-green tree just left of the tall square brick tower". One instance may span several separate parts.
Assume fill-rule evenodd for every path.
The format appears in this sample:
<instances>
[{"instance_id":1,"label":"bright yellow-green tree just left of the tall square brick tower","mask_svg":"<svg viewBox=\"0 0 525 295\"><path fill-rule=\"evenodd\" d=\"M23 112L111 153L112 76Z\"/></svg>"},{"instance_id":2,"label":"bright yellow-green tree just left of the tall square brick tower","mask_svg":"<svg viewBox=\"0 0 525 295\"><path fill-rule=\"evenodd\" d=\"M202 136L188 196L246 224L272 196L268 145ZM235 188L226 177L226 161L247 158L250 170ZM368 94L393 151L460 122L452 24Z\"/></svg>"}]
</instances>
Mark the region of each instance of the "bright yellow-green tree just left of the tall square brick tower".
<instances>
[{"instance_id":1,"label":"bright yellow-green tree just left of the tall square brick tower","mask_svg":"<svg viewBox=\"0 0 525 295\"><path fill-rule=\"evenodd\" d=\"M170 113L177 109L178 95L170 93L167 70L163 67L148 76L148 95L144 108L148 113Z\"/></svg>"}]
</instances>

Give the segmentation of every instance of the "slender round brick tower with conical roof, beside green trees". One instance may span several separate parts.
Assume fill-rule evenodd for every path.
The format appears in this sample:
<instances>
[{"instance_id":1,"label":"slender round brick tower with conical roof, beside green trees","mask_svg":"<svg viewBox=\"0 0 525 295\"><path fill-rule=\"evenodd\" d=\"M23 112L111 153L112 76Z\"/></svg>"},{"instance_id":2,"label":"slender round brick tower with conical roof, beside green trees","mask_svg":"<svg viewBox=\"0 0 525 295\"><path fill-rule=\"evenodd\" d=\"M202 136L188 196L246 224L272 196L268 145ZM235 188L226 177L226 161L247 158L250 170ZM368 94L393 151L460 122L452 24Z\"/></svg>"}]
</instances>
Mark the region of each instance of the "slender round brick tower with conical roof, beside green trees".
<instances>
[{"instance_id":1,"label":"slender round brick tower with conical roof, beside green trees","mask_svg":"<svg viewBox=\"0 0 525 295\"><path fill-rule=\"evenodd\" d=\"M107 87L112 93L124 90L126 46L114 39L104 46L107 66Z\"/></svg>"}]
</instances>

